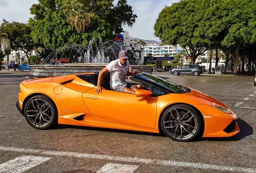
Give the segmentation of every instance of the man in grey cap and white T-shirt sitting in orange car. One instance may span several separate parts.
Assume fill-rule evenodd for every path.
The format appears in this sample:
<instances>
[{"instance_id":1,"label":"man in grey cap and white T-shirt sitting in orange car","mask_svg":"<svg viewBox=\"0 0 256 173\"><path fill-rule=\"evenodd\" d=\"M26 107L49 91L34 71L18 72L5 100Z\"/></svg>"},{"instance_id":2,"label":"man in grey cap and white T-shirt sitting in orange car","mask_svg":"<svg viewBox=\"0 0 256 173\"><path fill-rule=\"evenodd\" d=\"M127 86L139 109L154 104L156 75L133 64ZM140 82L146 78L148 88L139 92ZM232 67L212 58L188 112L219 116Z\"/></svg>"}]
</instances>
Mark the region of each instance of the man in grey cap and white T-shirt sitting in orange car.
<instances>
[{"instance_id":1,"label":"man in grey cap and white T-shirt sitting in orange car","mask_svg":"<svg viewBox=\"0 0 256 173\"><path fill-rule=\"evenodd\" d=\"M136 87L130 83L127 83L125 76L131 76L139 73L140 71L129 71L129 54L126 50L121 50L119 52L119 58L117 60L111 61L107 66L105 66L100 72L98 77L98 83L95 92L101 93L101 90L104 89L101 87L101 80L103 74L110 72L110 87L113 91L131 93L135 94L138 89L142 89L142 85L137 85Z\"/></svg>"}]
</instances>

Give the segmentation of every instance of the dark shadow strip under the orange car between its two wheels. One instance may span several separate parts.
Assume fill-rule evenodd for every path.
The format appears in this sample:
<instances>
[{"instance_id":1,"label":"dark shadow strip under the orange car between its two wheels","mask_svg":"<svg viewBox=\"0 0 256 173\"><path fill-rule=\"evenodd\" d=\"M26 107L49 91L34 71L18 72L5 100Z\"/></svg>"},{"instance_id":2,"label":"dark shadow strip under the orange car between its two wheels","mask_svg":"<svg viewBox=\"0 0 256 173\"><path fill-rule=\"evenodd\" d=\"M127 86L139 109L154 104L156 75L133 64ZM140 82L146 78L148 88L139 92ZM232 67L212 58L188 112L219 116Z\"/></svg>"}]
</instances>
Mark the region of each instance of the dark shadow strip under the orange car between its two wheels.
<instances>
[{"instance_id":1,"label":"dark shadow strip under the orange car between its two wheels","mask_svg":"<svg viewBox=\"0 0 256 173\"><path fill-rule=\"evenodd\" d=\"M150 133L150 132L141 132L141 131L130 131L122 129L108 129L100 127L86 127L86 126L74 126L74 125L56 125L51 128L52 130L56 129L81 129L81 130L90 130L90 131L102 131L102 132L114 132L114 133L127 133L135 135L147 135L147 136L157 136L157 137L167 137L164 133Z\"/></svg>"}]
</instances>

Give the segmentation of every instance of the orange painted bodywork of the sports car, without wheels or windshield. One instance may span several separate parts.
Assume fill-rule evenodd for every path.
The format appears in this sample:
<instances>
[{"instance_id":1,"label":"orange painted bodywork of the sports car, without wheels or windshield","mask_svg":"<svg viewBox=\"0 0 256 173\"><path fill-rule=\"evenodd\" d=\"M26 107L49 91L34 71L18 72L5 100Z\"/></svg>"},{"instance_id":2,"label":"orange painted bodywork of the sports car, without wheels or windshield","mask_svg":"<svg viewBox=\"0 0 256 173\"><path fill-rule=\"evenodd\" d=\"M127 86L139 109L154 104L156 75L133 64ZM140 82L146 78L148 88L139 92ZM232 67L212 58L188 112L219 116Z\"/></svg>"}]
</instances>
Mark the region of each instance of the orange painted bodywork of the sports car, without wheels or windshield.
<instances>
[{"instance_id":1,"label":"orange painted bodywork of the sports car, without wheels or windshield","mask_svg":"<svg viewBox=\"0 0 256 173\"><path fill-rule=\"evenodd\" d=\"M30 95L47 95L56 104L59 124L159 133L159 119L165 109L173 104L187 104L198 109L203 116L203 137L230 137L239 133L237 123L235 131L223 131L231 121L237 119L233 111L213 97L194 89L190 93L159 97L141 97L143 93L140 92L137 92L136 97L109 90L97 94L95 85L76 75L25 80L20 88L19 105L23 110L23 102ZM227 108L229 113L212 106ZM82 116L82 119L74 119L78 116Z\"/></svg>"}]
</instances>

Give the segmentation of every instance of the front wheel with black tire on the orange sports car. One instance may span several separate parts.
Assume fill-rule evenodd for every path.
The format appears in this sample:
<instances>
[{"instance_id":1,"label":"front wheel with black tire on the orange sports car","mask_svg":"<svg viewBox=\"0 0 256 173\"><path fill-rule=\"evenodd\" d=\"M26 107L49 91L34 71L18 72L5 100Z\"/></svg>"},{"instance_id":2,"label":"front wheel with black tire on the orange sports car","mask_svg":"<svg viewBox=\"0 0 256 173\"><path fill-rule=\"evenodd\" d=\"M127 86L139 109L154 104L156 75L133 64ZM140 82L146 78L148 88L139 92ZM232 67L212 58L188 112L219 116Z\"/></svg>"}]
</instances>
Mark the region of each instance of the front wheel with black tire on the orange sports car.
<instances>
[{"instance_id":1,"label":"front wheel with black tire on the orange sports car","mask_svg":"<svg viewBox=\"0 0 256 173\"><path fill-rule=\"evenodd\" d=\"M161 129L175 141L191 141L200 133L201 126L201 117L188 105L173 105L161 117Z\"/></svg>"}]
</instances>

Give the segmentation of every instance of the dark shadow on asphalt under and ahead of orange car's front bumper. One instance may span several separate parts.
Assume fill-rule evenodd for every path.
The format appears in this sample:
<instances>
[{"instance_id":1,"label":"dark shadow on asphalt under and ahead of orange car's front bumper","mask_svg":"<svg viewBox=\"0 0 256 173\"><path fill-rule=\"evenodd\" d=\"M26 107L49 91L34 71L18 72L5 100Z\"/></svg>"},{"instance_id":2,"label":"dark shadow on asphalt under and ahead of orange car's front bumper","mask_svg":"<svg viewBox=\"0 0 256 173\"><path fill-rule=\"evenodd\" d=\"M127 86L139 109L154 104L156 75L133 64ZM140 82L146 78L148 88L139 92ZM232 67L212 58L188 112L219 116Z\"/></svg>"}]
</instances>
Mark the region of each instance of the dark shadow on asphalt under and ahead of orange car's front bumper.
<instances>
[{"instance_id":1,"label":"dark shadow on asphalt under and ahead of orange car's front bumper","mask_svg":"<svg viewBox=\"0 0 256 173\"><path fill-rule=\"evenodd\" d=\"M238 119L237 124L240 129L240 132L232 137L196 138L196 140L194 141L240 141L245 137L253 134L252 127L248 123L246 123L244 120Z\"/></svg>"}]
</instances>

